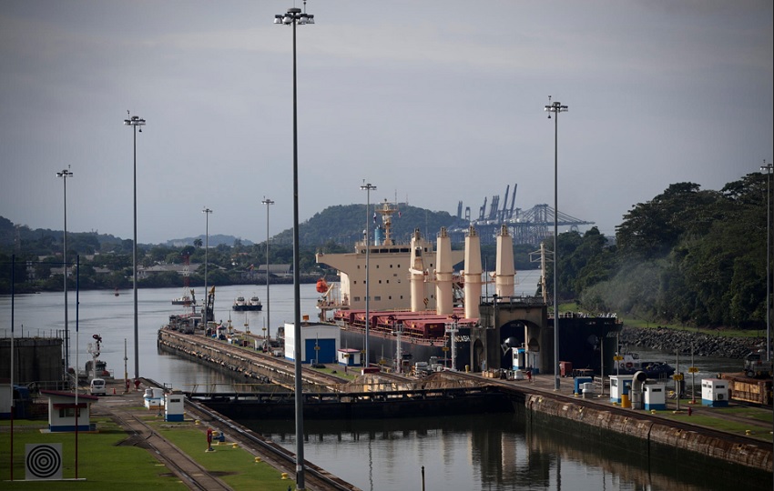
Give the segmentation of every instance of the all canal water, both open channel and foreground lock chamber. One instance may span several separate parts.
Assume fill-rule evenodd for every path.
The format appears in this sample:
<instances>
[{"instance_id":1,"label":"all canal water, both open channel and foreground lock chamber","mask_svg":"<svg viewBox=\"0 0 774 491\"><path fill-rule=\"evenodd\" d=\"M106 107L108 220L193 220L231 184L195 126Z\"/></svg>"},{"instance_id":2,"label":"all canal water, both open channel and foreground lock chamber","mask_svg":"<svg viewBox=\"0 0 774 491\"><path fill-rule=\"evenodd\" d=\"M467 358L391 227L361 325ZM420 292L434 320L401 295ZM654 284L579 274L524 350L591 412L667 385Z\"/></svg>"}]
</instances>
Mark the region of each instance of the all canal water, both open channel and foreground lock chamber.
<instances>
[{"instance_id":1,"label":"all canal water, both open channel and foreground lock chamber","mask_svg":"<svg viewBox=\"0 0 774 491\"><path fill-rule=\"evenodd\" d=\"M535 279L536 281L536 279ZM528 281L521 286L534 292ZM517 288L518 289L518 288ZM139 367L140 375L176 388L202 384L229 384L229 377L198 366L177 356L159 353L157 331L170 314L183 312L172 306L182 288L139 290ZM200 298L200 292L198 298ZM124 372L124 340L127 340L127 371L134 375L134 324L132 291L119 296L110 291L81 292L78 312L77 345L79 366L85 366L87 343L97 334L103 338L100 359L117 377ZM257 294L263 299L265 286L223 286L216 288L215 318L234 326L245 323L260 331L266 312L234 313L234 297ZM76 360L75 292L70 292L70 330ZM314 318L317 293L314 285L301 286L301 315ZM8 296L0 296L0 336L10 335ZM266 306L264 305L264 309ZM271 286L270 318L272 332L284 322L292 322L291 285ZM15 297L15 336L56 336L64 328L64 299L59 294ZM642 356L657 356L675 363L674 355L637 350ZM697 358L701 376L729 371L738 361ZM688 366L681 359L680 366ZM736 370L735 370L736 371ZM688 377L688 384L690 379ZM292 424L260 421L244 422L295 451ZM433 416L392 421L306 422L306 459L365 490L421 489L424 466L425 489L445 491L568 489L728 489L742 486L738 477L751 479L747 489L770 488L770 474L739 472L724 466L704 466L685 462L665 453L663 458L633 455L626 448L606 446L587 436L556 427L532 426L523 415L475 417ZM736 472L735 472L736 471ZM733 479L727 476L735 476ZM759 479L756 481L755 479Z\"/></svg>"}]
</instances>

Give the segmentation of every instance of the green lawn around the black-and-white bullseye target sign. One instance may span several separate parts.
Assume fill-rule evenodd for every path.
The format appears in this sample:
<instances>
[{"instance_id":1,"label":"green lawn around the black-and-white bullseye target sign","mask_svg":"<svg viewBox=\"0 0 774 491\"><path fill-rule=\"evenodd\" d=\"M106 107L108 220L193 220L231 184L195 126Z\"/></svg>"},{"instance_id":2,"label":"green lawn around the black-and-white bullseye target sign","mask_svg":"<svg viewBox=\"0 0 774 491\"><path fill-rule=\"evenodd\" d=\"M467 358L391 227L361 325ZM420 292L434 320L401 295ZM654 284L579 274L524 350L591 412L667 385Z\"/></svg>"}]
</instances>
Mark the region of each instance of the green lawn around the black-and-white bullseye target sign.
<instances>
[{"instance_id":1,"label":"green lawn around the black-and-white bullseye target sign","mask_svg":"<svg viewBox=\"0 0 774 491\"><path fill-rule=\"evenodd\" d=\"M118 446L127 438L127 433L107 418L92 418L97 423L99 433L78 434L78 478L72 481L24 482L25 445L43 443L61 443L63 456L63 476L66 479L76 477L76 436L74 433L41 433L39 426L47 427L41 421L14 421L14 482L8 482L11 473L8 462L11 458L10 434L3 430L0 444L0 481L3 489L95 489L111 491L149 489L188 489L176 476L168 474L165 466L147 450L136 446ZM4 425L6 426L6 425Z\"/></svg>"}]
</instances>

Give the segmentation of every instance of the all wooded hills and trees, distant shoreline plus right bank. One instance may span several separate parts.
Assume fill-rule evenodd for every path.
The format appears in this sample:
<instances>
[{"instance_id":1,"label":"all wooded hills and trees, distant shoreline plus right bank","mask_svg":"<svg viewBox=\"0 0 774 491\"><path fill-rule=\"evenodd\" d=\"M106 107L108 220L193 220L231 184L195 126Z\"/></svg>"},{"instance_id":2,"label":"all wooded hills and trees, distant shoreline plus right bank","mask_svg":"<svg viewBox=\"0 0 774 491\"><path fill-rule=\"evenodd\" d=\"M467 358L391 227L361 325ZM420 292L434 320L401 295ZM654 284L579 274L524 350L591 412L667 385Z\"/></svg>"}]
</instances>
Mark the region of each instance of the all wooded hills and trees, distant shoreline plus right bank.
<instances>
[{"instance_id":1,"label":"all wooded hills and trees, distant shoreline plus right bank","mask_svg":"<svg viewBox=\"0 0 774 491\"><path fill-rule=\"evenodd\" d=\"M687 326L760 327L766 322L767 176L746 175L720 191L693 183L669 185L647 203L634 205L616 227L615 243L595 228L585 234L560 234L559 298L589 311L617 312L655 323ZM417 225L424 236L441 226L464 226L447 213L402 205L393 219L394 238L405 242ZM332 206L300 225L300 274L307 281L332 279L335 271L317 265L316 252L349 252L362 239L364 205ZM245 273L266 262L266 244L245 245L209 237L210 285L255 283ZM292 263L292 230L271 238L271 265ZM212 246L217 244L217 246ZM131 286L131 240L96 233L68 233L69 262L81 255L81 288ZM461 245L460 245L461 246ZM553 240L546 244L553 248ZM535 246L514 246L517 270L531 269ZM31 230L0 217L0 292L10 291L11 254L15 254L16 291L59 290L62 232ZM186 246L139 245L142 266L204 262L201 238ZM484 264L494 265L494 246L482 246ZM97 273L96 268L104 268ZM547 286L553 286L549 267ZM107 270L107 271L106 271ZM190 276L204 284L203 268ZM75 287L75 278L71 279ZM272 280L275 281L275 280ZM281 281L277 278L276 281ZM182 286L175 272L140 281L140 286ZM550 293L550 292L549 292Z\"/></svg>"}]
</instances>

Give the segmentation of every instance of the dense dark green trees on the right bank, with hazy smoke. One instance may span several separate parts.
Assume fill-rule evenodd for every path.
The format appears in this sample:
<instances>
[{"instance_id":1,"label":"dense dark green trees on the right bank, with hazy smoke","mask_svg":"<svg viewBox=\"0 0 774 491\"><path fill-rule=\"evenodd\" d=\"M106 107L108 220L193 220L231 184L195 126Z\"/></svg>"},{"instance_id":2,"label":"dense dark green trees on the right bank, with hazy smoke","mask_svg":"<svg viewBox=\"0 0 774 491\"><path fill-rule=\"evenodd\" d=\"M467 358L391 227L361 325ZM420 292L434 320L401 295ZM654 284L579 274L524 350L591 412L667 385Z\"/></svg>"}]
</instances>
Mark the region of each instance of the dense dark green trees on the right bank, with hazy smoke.
<instances>
[{"instance_id":1,"label":"dense dark green trees on the right bank, with hazy smoke","mask_svg":"<svg viewBox=\"0 0 774 491\"><path fill-rule=\"evenodd\" d=\"M654 323L763 325L768 193L758 173L720 191L674 184L624 215L615 246L596 228L559 235L560 298Z\"/></svg>"}]
</instances>

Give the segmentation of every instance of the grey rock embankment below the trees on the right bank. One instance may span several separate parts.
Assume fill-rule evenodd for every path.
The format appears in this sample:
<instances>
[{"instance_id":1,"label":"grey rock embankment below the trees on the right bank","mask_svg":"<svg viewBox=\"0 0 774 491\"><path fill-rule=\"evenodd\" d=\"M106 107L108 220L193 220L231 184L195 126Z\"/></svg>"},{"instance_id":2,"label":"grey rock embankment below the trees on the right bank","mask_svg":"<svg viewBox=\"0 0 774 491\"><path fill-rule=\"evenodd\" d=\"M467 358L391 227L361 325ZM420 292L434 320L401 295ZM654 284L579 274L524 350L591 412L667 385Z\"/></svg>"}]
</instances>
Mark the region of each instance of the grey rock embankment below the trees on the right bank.
<instances>
[{"instance_id":1,"label":"grey rock embankment below the trees on the right bank","mask_svg":"<svg viewBox=\"0 0 774 491\"><path fill-rule=\"evenodd\" d=\"M742 359L750 351L766 349L766 338L712 336L694 331L679 331L667 327L630 327L621 332L621 346L644 346L650 349L696 356L719 356Z\"/></svg>"}]
</instances>

